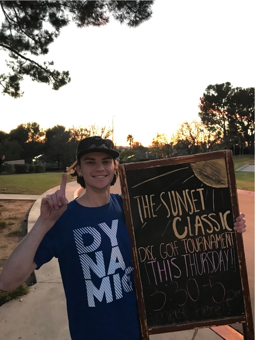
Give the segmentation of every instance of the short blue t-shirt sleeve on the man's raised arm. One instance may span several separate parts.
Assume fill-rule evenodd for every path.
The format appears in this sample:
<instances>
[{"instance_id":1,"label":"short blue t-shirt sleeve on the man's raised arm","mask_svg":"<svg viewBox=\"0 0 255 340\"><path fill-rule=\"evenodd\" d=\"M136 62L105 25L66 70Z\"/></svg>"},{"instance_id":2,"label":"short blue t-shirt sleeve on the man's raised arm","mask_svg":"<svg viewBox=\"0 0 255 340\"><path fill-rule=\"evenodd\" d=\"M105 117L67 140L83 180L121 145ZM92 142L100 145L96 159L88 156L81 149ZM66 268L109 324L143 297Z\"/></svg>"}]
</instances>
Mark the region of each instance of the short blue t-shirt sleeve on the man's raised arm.
<instances>
[{"instance_id":1,"label":"short blue t-shirt sleeve on the man's raised arm","mask_svg":"<svg viewBox=\"0 0 255 340\"><path fill-rule=\"evenodd\" d=\"M39 269L44 263L49 262L53 257L57 256L54 246L54 237L50 230L42 239L35 253L34 262L37 264L36 269Z\"/></svg>"}]
</instances>

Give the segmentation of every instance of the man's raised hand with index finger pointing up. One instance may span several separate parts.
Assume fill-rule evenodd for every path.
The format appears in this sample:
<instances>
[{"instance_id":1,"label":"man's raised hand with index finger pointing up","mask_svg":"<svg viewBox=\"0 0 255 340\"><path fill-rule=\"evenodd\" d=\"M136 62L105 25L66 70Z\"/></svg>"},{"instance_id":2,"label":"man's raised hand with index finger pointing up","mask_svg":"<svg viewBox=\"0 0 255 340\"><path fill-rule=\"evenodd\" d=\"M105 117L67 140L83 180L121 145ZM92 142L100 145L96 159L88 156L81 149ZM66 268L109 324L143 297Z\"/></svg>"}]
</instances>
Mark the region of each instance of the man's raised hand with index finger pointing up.
<instances>
[{"instance_id":1,"label":"man's raised hand with index finger pointing up","mask_svg":"<svg viewBox=\"0 0 255 340\"><path fill-rule=\"evenodd\" d=\"M63 173L60 190L41 200L40 217L43 221L54 224L66 211L68 203L66 199L66 178L66 174Z\"/></svg>"}]
</instances>

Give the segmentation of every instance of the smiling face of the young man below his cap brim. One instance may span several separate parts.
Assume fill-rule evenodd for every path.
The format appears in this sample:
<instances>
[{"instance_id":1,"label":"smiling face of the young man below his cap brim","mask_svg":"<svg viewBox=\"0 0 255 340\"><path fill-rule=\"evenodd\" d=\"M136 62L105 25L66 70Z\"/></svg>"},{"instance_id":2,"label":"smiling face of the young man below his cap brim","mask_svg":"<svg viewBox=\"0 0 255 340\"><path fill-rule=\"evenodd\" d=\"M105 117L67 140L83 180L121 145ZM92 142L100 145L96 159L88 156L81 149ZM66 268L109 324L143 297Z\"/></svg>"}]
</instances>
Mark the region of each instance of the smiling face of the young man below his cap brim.
<instances>
[{"instance_id":1,"label":"smiling face of the young man below his cap brim","mask_svg":"<svg viewBox=\"0 0 255 340\"><path fill-rule=\"evenodd\" d=\"M107 189L113 181L116 165L113 157L103 152L91 152L82 155L81 165L77 165L78 175L82 175L86 189Z\"/></svg>"}]
</instances>

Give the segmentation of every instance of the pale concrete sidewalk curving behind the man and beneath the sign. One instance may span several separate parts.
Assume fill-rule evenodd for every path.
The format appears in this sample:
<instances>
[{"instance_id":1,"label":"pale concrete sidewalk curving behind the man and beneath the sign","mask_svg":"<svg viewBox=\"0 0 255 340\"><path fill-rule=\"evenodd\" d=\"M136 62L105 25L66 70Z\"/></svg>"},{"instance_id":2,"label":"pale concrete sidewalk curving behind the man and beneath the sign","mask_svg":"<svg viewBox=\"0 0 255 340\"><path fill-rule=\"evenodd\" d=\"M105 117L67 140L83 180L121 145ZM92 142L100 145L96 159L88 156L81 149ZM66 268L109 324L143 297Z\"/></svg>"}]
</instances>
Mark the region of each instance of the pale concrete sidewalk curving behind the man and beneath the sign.
<instances>
[{"instance_id":1,"label":"pale concrete sidewalk curving behind the man and beneath the sign","mask_svg":"<svg viewBox=\"0 0 255 340\"><path fill-rule=\"evenodd\" d=\"M60 186L52 188L37 198L28 218L29 231L39 216L41 199L59 188ZM74 197L78 196L80 188L81 187L75 181L67 183L66 197L68 201L71 201ZM119 182L111 187L111 191L115 193L121 192ZM15 199L22 199L19 198L22 195L17 196L18 197ZM0 199L3 198L0 196ZM11 198L9 197L8 199ZM8 302L0 307L1 339L71 340L66 311L66 298L57 259L53 258L38 271L35 271L35 274L37 284L30 287L30 293L28 295L22 296L21 299ZM150 339L191 340L193 335L194 330L185 330L174 333L151 335ZM223 338L210 328L201 328L193 339L217 340Z\"/></svg>"}]
</instances>

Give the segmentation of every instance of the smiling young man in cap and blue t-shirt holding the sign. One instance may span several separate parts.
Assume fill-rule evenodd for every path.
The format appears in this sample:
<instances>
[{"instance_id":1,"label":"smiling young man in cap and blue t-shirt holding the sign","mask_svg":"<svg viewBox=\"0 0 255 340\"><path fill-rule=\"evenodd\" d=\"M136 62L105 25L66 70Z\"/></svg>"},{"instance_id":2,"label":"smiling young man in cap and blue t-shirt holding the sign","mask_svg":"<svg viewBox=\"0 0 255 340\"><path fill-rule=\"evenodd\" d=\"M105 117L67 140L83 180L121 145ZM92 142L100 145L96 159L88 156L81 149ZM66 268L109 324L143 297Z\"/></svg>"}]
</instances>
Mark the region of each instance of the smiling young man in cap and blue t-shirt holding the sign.
<instances>
[{"instance_id":1,"label":"smiling young man in cap and blue t-shirt holding the sign","mask_svg":"<svg viewBox=\"0 0 255 340\"><path fill-rule=\"evenodd\" d=\"M60 190L42 199L38 220L0 275L0 289L13 290L33 270L57 257L72 340L141 336L122 198L110 194L118 156L109 139L94 136L80 141L69 172L86 187L85 193L67 204L63 175ZM243 217L234 227L241 233Z\"/></svg>"}]
</instances>

